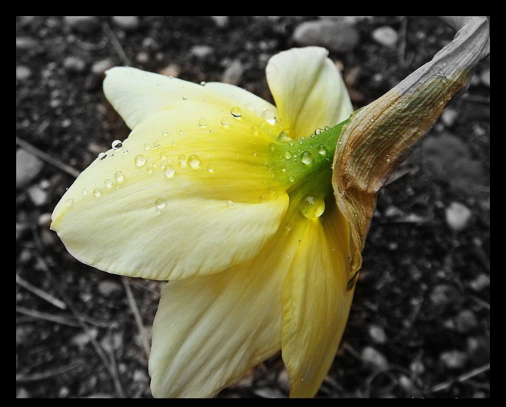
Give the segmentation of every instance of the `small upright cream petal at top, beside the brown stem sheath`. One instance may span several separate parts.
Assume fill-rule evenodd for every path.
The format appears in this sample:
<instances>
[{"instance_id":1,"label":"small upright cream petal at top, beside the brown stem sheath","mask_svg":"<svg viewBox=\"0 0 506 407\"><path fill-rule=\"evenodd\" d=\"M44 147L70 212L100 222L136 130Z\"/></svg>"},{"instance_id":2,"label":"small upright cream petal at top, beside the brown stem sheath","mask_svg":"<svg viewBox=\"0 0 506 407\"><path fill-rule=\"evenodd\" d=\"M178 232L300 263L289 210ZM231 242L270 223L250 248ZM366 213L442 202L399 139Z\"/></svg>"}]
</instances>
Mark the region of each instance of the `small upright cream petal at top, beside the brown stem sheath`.
<instances>
[{"instance_id":1,"label":"small upright cream petal at top, beside the brown stem sheath","mask_svg":"<svg viewBox=\"0 0 506 407\"><path fill-rule=\"evenodd\" d=\"M353 112L350 96L325 48L308 46L276 54L267 82L285 127L298 137L341 123Z\"/></svg>"}]
</instances>

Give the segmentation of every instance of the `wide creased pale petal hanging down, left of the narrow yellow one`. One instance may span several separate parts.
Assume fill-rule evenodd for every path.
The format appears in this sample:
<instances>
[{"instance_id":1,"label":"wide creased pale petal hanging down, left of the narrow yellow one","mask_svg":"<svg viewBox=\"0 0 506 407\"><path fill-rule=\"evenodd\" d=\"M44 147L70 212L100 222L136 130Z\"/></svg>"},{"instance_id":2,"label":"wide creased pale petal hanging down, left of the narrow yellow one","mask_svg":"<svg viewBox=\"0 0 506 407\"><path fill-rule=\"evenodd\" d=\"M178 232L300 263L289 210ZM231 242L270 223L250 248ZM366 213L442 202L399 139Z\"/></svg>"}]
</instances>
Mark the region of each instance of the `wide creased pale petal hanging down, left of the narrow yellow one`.
<instances>
[{"instance_id":1,"label":"wide creased pale petal hanging down, left of the narrow yellow one","mask_svg":"<svg viewBox=\"0 0 506 407\"><path fill-rule=\"evenodd\" d=\"M293 212L249 262L163 287L149 360L155 397L212 396L281 349L283 284L305 231Z\"/></svg>"}]
</instances>

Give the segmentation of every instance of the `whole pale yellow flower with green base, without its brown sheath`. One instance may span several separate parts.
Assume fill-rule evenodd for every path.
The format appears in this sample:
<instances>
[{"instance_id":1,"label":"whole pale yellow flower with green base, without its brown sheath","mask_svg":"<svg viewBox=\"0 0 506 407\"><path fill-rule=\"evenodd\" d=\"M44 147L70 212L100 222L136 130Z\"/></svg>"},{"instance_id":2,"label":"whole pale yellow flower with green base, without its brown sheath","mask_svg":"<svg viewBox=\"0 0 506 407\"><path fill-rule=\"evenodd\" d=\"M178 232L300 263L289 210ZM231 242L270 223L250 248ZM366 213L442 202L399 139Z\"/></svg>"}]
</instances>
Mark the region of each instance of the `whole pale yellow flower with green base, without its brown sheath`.
<instances>
[{"instance_id":1,"label":"whole pale yellow flower with green base, without its brown sheath","mask_svg":"<svg viewBox=\"0 0 506 407\"><path fill-rule=\"evenodd\" d=\"M280 349L291 396L314 396L325 378L353 296L350 227L330 183L340 127L323 131L352 106L326 56L271 58L277 108L224 83L107 72L132 133L76 179L52 229L83 263L170 280L153 324L154 396L212 396Z\"/></svg>"}]
</instances>

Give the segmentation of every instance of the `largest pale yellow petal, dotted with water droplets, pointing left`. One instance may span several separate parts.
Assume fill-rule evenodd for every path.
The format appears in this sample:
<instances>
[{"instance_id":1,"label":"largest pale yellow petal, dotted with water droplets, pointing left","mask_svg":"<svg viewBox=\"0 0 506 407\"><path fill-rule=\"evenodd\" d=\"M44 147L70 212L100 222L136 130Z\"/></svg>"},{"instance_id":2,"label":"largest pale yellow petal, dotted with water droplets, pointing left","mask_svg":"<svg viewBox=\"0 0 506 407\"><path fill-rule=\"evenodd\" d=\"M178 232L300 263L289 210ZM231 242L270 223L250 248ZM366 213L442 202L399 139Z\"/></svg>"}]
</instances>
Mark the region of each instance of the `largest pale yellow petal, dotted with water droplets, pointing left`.
<instances>
[{"instance_id":1,"label":"largest pale yellow petal, dotted with water droplets, pointing left","mask_svg":"<svg viewBox=\"0 0 506 407\"><path fill-rule=\"evenodd\" d=\"M251 259L277 231L288 196L265 165L273 126L246 109L234 117L236 100L219 92L208 89L206 99L205 86L184 86L185 98L146 112L122 148L95 160L58 203L52 228L79 261L186 278ZM136 114L123 111L133 122Z\"/></svg>"}]
</instances>

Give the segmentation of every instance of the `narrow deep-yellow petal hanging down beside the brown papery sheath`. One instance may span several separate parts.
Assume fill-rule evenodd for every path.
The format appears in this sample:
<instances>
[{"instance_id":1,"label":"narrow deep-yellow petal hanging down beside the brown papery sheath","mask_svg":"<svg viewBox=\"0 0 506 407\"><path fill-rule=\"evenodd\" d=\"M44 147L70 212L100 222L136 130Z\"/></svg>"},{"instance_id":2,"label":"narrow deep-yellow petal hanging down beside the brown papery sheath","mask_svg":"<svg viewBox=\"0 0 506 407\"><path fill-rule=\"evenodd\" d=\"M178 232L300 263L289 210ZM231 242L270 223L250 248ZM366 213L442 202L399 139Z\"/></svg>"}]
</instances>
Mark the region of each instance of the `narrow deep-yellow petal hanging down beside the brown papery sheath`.
<instances>
[{"instance_id":1,"label":"narrow deep-yellow petal hanging down beside the brown papery sheath","mask_svg":"<svg viewBox=\"0 0 506 407\"><path fill-rule=\"evenodd\" d=\"M350 228L332 197L319 218L307 219L283 288L282 354L291 397L313 397L343 335L353 297Z\"/></svg>"}]
</instances>

